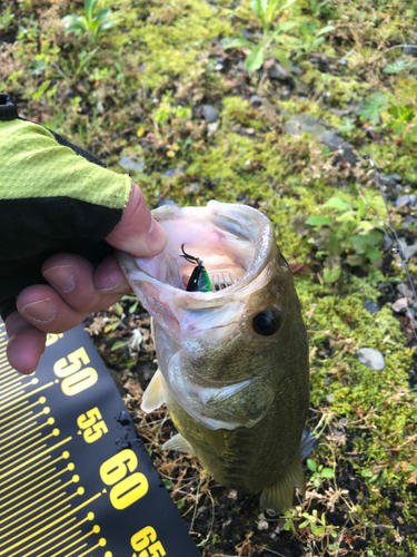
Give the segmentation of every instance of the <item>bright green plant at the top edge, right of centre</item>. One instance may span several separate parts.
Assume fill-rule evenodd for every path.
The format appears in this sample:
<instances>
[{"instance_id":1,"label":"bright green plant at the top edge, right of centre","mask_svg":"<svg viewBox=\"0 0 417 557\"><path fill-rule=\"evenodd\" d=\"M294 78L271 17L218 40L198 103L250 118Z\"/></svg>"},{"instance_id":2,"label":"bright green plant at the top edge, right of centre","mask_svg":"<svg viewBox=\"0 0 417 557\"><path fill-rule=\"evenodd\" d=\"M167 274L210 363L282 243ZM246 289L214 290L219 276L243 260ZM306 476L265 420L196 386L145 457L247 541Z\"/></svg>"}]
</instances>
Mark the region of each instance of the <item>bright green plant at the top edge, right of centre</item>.
<instances>
[{"instance_id":1,"label":"bright green plant at the top edge, right of centre","mask_svg":"<svg viewBox=\"0 0 417 557\"><path fill-rule=\"evenodd\" d=\"M285 52L276 48L276 41L286 31L292 29L297 23L295 21L276 22L278 16L289 8L296 0L288 0L281 4L280 0L252 0L250 9L258 16L262 25L262 39L260 43L254 45L248 39L225 39L225 48L249 48L250 52L246 59L246 69L257 71L264 66L267 58L272 56L279 62L291 67Z\"/></svg>"}]
</instances>

